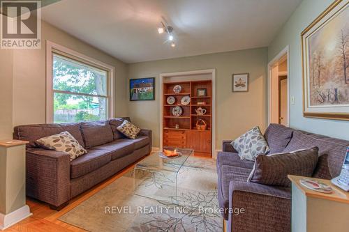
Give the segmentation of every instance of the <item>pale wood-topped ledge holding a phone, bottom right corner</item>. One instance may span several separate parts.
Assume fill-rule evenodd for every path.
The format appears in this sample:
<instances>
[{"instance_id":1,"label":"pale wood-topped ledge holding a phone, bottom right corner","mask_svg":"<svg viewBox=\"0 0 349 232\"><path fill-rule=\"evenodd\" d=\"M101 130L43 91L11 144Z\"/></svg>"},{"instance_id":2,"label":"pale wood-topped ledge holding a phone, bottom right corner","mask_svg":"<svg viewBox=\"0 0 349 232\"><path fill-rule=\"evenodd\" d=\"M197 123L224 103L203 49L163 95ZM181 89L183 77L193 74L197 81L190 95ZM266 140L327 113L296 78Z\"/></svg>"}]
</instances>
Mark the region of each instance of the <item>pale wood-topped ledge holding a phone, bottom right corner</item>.
<instances>
[{"instance_id":1,"label":"pale wood-topped ledge holding a phone, bottom right corner","mask_svg":"<svg viewBox=\"0 0 349 232\"><path fill-rule=\"evenodd\" d=\"M332 185L330 180L321 179L334 189L325 194L301 185L299 180L304 176L288 178L292 181L292 232L349 231L349 192Z\"/></svg>"}]
</instances>

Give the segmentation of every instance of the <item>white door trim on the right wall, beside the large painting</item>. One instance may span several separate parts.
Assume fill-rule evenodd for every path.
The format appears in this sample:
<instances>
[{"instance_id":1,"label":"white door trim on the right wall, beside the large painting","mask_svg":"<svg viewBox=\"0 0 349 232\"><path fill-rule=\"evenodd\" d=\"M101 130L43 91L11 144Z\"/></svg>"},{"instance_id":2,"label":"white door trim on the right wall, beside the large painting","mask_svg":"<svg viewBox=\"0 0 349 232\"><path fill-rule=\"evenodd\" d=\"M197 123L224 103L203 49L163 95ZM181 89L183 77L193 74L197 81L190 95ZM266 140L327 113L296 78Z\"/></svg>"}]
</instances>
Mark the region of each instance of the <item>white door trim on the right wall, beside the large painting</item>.
<instances>
[{"instance_id":1,"label":"white door trim on the right wall, beside the large painting","mask_svg":"<svg viewBox=\"0 0 349 232\"><path fill-rule=\"evenodd\" d=\"M272 66L278 62L283 56L287 56L287 115L288 115L288 123L287 125L290 126L290 45L287 45L285 48L279 52L272 61L268 63L268 78L267 78L267 88L268 88L268 104L267 104L267 124L269 125L272 118ZM283 73L284 74L284 73Z\"/></svg>"}]
</instances>

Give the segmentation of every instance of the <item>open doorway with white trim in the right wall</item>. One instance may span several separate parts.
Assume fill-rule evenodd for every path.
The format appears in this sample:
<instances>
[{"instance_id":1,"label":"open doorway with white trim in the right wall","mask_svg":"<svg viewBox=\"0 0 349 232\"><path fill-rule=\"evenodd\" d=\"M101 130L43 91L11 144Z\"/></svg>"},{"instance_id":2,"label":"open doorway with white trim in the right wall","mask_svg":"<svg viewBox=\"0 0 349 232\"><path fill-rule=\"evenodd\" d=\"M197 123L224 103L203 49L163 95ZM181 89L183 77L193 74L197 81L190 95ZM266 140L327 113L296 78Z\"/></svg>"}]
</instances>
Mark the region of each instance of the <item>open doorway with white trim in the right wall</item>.
<instances>
[{"instance_id":1,"label":"open doorway with white trim in the right wall","mask_svg":"<svg viewBox=\"0 0 349 232\"><path fill-rule=\"evenodd\" d=\"M268 124L289 126L289 68L288 47L285 47L268 65L269 109Z\"/></svg>"}]
</instances>

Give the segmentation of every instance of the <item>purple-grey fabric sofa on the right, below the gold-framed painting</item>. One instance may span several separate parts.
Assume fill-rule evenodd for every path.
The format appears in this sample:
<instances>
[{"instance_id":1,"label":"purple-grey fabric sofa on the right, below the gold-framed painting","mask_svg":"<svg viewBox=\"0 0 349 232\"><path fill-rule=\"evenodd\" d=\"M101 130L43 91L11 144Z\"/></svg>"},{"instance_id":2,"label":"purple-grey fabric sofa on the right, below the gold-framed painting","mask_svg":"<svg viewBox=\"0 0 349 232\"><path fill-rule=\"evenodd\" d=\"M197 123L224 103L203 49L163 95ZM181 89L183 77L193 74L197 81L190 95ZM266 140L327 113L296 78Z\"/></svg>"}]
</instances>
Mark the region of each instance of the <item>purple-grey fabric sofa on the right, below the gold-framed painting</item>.
<instances>
[{"instance_id":1,"label":"purple-grey fabric sofa on the right, below the gold-framed painting","mask_svg":"<svg viewBox=\"0 0 349 232\"><path fill-rule=\"evenodd\" d=\"M313 177L332 179L339 176L349 141L325 137L279 124L265 132L270 153L288 152L318 146L319 160ZM218 201L223 208L227 231L291 231L291 189L248 183L253 162L240 160L231 141L223 141L217 156ZM244 208L244 213L233 213Z\"/></svg>"}]
</instances>

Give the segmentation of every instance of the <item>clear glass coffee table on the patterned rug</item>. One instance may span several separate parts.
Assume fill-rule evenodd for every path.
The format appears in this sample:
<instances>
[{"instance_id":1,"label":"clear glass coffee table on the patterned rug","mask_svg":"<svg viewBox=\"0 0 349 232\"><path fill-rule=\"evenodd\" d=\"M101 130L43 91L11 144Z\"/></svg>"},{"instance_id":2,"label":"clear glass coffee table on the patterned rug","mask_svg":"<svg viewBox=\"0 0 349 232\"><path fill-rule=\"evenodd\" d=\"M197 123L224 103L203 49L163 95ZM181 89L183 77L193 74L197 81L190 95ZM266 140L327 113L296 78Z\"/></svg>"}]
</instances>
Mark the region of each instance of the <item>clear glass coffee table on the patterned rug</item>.
<instances>
[{"instance_id":1,"label":"clear glass coffee table on the patterned rug","mask_svg":"<svg viewBox=\"0 0 349 232\"><path fill-rule=\"evenodd\" d=\"M151 153L144 160L135 164L133 170L134 194L158 201L175 201L178 196L178 174L193 149L165 147L176 149L181 155L161 157L161 152Z\"/></svg>"}]
</instances>

